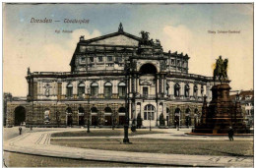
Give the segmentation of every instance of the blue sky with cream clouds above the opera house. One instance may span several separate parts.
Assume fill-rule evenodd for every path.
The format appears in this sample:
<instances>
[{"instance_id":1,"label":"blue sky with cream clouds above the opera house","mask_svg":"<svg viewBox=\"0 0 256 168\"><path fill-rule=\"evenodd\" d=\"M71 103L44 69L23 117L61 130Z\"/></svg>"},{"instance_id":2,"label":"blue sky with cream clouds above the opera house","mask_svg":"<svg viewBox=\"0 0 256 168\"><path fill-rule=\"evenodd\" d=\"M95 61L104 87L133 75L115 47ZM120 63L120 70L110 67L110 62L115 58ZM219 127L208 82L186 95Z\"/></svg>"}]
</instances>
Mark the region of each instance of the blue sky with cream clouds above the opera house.
<instances>
[{"instance_id":1,"label":"blue sky with cream clouds above the opera house","mask_svg":"<svg viewBox=\"0 0 256 168\"><path fill-rule=\"evenodd\" d=\"M32 18L52 23L31 23ZM65 19L89 23L67 24ZM163 51L187 53L190 74L212 77L222 55L228 59L231 89L253 88L252 4L4 4L3 91L26 96L28 67L69 72L80 35L90 39L112 33L119 23L137 36L150 32ZM218 33L228 30L239 33Z\"/></svg>"}]
</instances>

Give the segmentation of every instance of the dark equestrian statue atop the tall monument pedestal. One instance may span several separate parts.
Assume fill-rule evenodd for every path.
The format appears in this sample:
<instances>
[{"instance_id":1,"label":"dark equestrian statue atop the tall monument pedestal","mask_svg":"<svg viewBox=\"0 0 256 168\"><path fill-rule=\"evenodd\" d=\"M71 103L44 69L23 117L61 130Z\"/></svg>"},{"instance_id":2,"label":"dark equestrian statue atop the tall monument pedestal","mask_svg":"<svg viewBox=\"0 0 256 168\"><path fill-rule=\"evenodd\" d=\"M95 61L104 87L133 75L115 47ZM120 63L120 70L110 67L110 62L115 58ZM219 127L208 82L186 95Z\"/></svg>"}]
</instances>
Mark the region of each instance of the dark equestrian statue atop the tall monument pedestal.
<instances>
[{"instance_id":1,"label":"dark equestrian statue atop the tall monument pedestal","mask_svg":"<svg viewBox=\"0 0 256 168\"><path fill-rule=\"evenodd\" d=\"M216 68L214 70L214 81L216 81L217 77L219 81L222 83L227 80L227 64L228 60L222 58L222 55L219 56L219 59L216 60Z\"/></svg>"}]
</instances>

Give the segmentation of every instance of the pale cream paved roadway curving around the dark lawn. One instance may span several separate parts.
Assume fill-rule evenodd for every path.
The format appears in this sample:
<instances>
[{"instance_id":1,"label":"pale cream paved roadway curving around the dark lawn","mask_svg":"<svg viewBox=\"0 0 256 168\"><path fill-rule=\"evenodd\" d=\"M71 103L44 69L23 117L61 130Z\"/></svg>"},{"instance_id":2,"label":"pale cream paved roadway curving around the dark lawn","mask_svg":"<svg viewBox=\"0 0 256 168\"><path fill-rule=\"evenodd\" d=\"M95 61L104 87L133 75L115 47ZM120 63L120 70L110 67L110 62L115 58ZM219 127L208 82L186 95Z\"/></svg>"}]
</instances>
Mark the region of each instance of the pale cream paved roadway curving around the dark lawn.
<instances>
[{"instance_id":1,"label":"pale cream paved roadway curving around the dark lawn","mask_svg":"<svg viewBox=\"0 0 256 168\"><path fill-rule=\"evenodd\" d=\"M12 129L11 129L12 130ZM45 131L47 130L47 131ZM7 130L5 130L7 131ZM88 148L76 148L66 147L50 144L50 136L52 133L65 132L65 131L81 131L81 129L33 129L32 132L22 136L17 136L14 139L5 138L4 150L6 151L18 151L22 153L32 153L42 156L54 156L62 158L76 158L76 159L90 159L100 161L115 161L121 163L151 163L161 165L176 165L176 166L241 166L241 167L252 167L252 157L232 157L232 156L204 156L204 155L183 155L183 154L162 154L162 153L146 153L146 152L125 152L125 151L110 151L110 150L99 150L99 149L88 149ZM162 130L161 130L162 131ZM9 130L7 131L9 132ZM13 137L15 129L12 130L13 134L4 134L8 138ZM182 131L165 130L166 134L162 135L141 135L136 136L137 138L167 138L180 139L183 135ZM168 134L167 134L168 133ZM172 135L172 136L171 136ZM204 138L195 136L185 136L184 139L222 139L222 138ZM225 139L225 138L224 138ZM237 140L252 140L249 138L237 138ZM127 144L129 145L129 144Z\"/></svg>"}]
</instances>

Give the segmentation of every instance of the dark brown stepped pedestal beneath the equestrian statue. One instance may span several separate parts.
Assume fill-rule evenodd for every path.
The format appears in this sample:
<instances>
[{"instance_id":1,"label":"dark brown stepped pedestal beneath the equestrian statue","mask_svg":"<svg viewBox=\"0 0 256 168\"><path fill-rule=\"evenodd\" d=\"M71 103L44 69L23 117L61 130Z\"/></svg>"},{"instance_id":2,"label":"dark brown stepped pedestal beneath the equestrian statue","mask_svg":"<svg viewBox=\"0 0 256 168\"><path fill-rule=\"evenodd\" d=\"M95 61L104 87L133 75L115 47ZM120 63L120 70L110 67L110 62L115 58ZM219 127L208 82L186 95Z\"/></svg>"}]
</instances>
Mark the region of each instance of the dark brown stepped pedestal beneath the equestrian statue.
<instances>
[{"instance_id":1,"label":"dark brown stepped pedestal beneath the equestrian statue","mask_svg":"<svg viewBox=\"0 0 256 168\"><path fill-rule=\"evenodd\" d=\"M205 97L201 123L192 130L193 134L227 134L229 127L232 127L235 134L249 133L244 123L240 102L232 102L229 90L229 84L212 87L213 100L208 107Z\"/></svg>"}]
</instances>

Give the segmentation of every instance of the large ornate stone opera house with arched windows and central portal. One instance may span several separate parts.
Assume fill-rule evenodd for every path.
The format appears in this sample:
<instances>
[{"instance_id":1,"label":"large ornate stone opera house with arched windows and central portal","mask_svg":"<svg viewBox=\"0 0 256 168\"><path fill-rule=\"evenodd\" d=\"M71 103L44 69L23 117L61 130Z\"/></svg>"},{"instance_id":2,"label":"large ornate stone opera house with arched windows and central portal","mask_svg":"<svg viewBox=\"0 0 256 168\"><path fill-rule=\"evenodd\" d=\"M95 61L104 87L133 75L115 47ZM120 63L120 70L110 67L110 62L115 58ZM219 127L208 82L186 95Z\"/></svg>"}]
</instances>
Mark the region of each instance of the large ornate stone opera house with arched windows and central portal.
<instances>
[{"instance_id":1,"label":"large ornate stone opera house with arched windows and central portal","mask_svg":"<svg viewBox=\"0 0 256 168\"><path fill-rule=\"evenodd\" d=\"M80 37L70 72L31 72L28 95L7 104L7 126L122 126L141 115L143 127L193 126L203 97L212 98L212 77L188 73L187 54L164 52L160 40L118 31ZM127 109L127 113L126 113ZM136 122L135 122L136 123Z\"/></svg>"}]
</instances>

